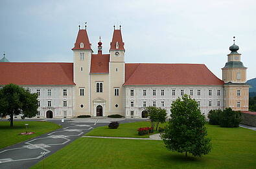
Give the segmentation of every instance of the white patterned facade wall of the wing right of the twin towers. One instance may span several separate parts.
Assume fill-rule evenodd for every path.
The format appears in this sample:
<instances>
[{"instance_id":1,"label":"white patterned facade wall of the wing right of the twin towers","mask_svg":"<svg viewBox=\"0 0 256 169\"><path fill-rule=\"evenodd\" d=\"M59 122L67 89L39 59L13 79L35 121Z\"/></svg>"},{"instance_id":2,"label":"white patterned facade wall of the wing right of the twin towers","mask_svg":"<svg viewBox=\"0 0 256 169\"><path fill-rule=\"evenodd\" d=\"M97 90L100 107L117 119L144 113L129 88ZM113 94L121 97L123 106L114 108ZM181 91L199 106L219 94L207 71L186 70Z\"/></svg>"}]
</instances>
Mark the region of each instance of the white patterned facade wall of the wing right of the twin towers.
<instances>
[{"instance_id":1,"label":"white patterned facade wall of the wing right of the twin towers","mask_svg":"<svg viewBox=\"0 0 256 169\"><path fill-rule=\"evenodd\" d=\"M134 96L130 94L130 90L134 90ZM146 95L143 95L143 90L146 90ZM153 90L156 90L156 96L153 95ZM164 95L161 95L161 90L164 90ZM175 90L175 95L172 95L172 90ZM140 118L141 112L145 109L143 101L146 101L146 106L152 106L153 101L156 101L157 107L162 107L167 110L167 114L170 115L170 105L178 97L181 97L181 90L183 94L190 94L192 90L192 99L200 101L200 108L202 114L207 117L207 114L212 109L223 109L224 88L223 86L189 86L189 85L169 85L169 86L125 86L126 91L126 117ZM200 95L198 95L200 90ZM211 95L209 95L211 90ZM217 94L220 90L220 95ZM131 101L134 101L134 106L131 106ZM164 102L164 106L161 102ZM209 106L211 101L211 106ZM217 106L220 101L220 106ZM131 115L131 111L134 111L134 115Z\"/></svg>"}]
</instances>

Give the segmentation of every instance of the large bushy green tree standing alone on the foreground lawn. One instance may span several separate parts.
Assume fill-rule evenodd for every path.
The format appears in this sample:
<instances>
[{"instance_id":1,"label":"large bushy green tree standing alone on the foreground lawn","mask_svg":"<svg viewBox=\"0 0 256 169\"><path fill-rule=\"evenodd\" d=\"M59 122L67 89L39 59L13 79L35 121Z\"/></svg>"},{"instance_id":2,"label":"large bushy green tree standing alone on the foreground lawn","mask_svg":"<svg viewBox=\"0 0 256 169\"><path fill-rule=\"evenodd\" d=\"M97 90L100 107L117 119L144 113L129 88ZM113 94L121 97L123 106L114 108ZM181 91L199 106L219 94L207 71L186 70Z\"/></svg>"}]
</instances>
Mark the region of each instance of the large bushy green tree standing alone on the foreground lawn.
<instances>
[{"instance_id":1,"label":"large bushy green tree standing alone on the foreground lawn","mask_svg":"<svg viewBox=\"0 0 256 169\"><path fill-rule=\"evenodd\" d=\"M198 103L188 95L178 97L172 103L171 119L165 134L161 135L165 147L170 151L191 153L201 157L211 151L211 139L206 138L205 117Z\"/></svg>"}]
</instances>

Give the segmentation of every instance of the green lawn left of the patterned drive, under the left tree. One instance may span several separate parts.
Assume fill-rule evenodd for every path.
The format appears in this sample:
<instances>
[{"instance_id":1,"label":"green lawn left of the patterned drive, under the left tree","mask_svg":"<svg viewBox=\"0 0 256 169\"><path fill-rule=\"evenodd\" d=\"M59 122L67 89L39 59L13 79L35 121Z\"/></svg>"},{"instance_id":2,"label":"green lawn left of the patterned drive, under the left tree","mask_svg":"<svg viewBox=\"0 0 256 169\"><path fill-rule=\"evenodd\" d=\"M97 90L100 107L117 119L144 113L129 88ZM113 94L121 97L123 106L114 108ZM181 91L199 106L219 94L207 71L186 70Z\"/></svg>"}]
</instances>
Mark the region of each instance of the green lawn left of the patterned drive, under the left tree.
<instances>
[{"instance_id":1,"label":"green lawn left of the patterned drive, under the left tree","mask_svg":"<svg viewBox=\"0 0 256 169\"><path fill-rule=\"evenodd\" d=\"M29 124L28 132L35 132L35 134L19 135L26 131L25 124ZM14 126L11 128L9 121L0 121L0 148L20 143L60 127L58 124L45 121L14 121Z\"/></svg>"}]
</instances>

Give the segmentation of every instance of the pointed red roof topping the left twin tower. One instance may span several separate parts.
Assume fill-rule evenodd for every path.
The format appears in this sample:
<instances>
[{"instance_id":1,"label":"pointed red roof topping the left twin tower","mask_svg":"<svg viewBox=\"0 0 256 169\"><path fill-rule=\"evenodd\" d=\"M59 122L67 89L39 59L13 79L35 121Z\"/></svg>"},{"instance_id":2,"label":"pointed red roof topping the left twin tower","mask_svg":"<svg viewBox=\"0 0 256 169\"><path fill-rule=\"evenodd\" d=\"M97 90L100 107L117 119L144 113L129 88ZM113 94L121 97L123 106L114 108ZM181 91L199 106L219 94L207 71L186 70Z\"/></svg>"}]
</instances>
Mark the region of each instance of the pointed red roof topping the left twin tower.
<instances>
[{"instance_id":1,"label":"pointed red roof topping the left twin tower","mask_svg":"<svg viewBox=\"0 0 256 169\"><path fill-rule=\"evenodd\" d=\"M80 43L84 43L84 48L80 48ZM89 42L89 37L87 35L86 30L79 30L77 37L76 37L76 43L72 50L74 49L91 49L91 43Z\"/></svg>"}]
</instances>

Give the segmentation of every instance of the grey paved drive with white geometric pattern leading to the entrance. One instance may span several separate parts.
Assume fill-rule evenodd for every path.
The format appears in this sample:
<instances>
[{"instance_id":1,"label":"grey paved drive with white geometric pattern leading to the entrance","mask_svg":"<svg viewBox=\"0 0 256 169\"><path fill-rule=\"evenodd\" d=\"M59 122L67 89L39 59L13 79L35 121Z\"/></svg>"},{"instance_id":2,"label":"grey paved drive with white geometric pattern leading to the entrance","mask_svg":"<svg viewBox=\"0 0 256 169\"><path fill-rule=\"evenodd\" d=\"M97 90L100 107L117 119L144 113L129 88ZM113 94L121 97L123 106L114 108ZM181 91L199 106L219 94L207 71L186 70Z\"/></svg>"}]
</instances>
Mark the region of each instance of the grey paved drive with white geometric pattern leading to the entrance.
<instances>
[{"instance_id":1,"label":"grey paved drive with white geometric pattern leading to the entrance","mask_svg":"<svg viewBox=\"0 0 256 169\"><path fill-rule=\"evenodd\" d=\"M38 121L38 119L28 119L27 121ZM62 128L0 149L1 169L30 168L44 157L53 154L72 141L75 141L75 139L82 137L89 130L97 126L106 126L112 119L104 119L104 121L102 119L65 119L64 123L60 119L44 119L43 121L60 124ZM101 123L98 123L99 121ZM135 121L132 119L122 119L119 123Z\"/></svg>"}]
</instances>

